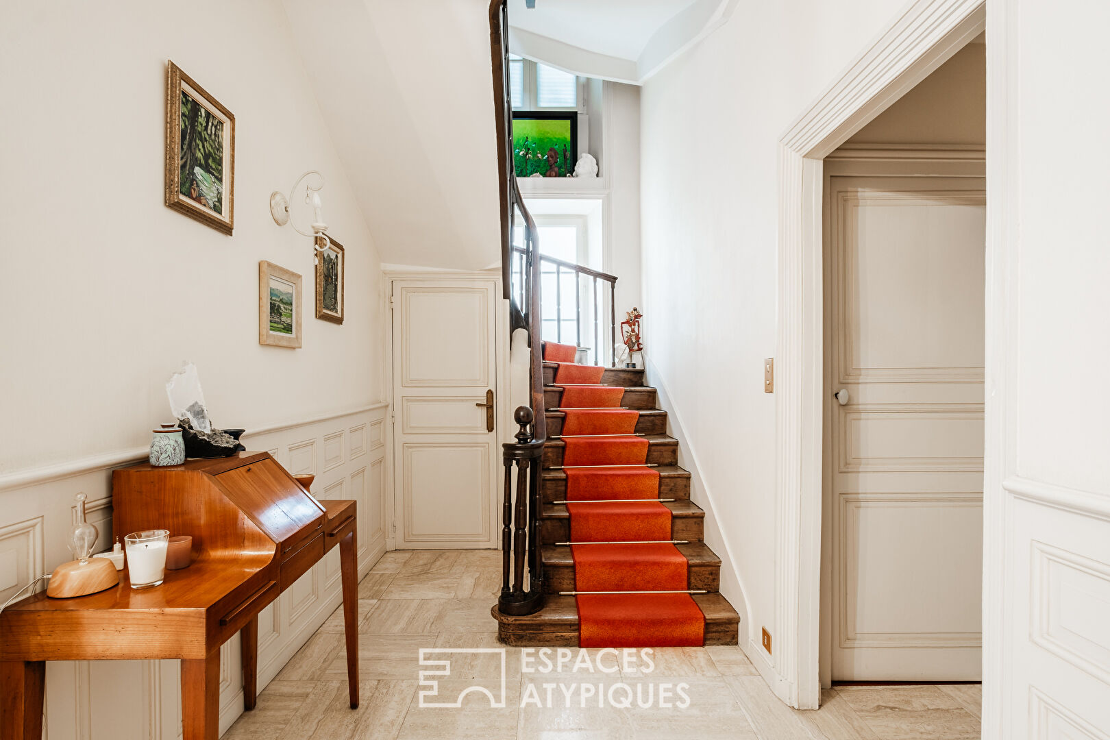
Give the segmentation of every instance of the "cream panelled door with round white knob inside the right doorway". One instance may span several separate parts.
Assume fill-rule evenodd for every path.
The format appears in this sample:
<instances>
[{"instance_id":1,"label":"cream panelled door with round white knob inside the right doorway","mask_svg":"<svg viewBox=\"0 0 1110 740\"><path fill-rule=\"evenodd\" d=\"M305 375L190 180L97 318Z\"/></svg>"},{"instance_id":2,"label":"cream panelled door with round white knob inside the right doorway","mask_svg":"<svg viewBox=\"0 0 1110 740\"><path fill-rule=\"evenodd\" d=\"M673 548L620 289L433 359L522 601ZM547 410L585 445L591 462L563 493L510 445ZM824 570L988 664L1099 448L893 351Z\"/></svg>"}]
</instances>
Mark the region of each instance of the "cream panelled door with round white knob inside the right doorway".
<instances>
[{"instance_id":1,"label":"cream panelled door with round white knob inside the right doorway","mask_svg":"<svg viewBox=\"0 0 1110 740\"><path fill-rule=\"evenodd\" d=\"M827 203L831 676L978 680L985 183L833 176Z\"/></svg>"}]
</instances>

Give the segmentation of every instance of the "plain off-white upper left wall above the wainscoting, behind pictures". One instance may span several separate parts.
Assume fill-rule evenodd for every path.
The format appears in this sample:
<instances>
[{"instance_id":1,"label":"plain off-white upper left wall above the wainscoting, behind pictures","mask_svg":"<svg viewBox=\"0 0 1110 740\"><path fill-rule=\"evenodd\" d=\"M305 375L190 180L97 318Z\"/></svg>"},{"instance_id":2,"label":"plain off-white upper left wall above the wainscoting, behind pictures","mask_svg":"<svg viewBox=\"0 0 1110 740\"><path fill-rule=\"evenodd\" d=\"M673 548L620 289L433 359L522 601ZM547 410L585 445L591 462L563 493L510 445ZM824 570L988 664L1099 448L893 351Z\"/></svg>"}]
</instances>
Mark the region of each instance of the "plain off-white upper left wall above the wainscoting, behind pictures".
<instances>
[{"instance_id":1,"label":"plain off-white upper left wall above the wainscoting, behind pictures","mask_svg":"<svg viewBox=\"0 0 1110 740\"><path fill-rule=\"evenodd\" d=\"M221 426L379 401L379 254L281 4L67 6L0 28L0 473L148 444L183 358ZM232 237L163 205L167 59L235 114ZM311 169L346 247L342 326L314 318L311 240L270 216ZM303 277L302 349L258 343L260 260Z\"/></svg>"}]
</instances>

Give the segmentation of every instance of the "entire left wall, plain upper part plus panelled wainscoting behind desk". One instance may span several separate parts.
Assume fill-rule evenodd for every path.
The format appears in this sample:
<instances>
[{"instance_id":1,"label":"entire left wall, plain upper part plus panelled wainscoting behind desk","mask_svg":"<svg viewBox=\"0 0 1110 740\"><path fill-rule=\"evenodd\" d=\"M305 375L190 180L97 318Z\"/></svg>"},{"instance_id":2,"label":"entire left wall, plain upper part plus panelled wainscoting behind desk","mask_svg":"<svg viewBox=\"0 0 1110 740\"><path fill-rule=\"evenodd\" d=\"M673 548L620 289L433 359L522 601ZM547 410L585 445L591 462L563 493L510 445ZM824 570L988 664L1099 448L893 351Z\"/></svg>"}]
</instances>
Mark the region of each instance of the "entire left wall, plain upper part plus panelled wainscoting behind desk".
<instances>
[{"instance_id":1,"label":"entire left wall, plain upper part plus panelled wainscoting behind desk","mask_svg":"<svg viewBox=\"0 0 1110 740\"><path fill-rule=\"evenodd\" d=\"M365 571L386 527L380 260L281 3L63 6L8 3L0 23L0 602L69 559L78 491L108 547L110 468L169 419L183 358L218 425L269 427L244 442L359 499ZM163 205L167 59L235 114L232 237ZM270 192L310 169L346 247L342 326L314 318L311 240L270 216ZM258 344L260 260L303 277L302 349ZM331 560L266 610L262 681L334 609ZM223 655L226 727L234 641ZM179 736L176 661L51 663L47 682L51 738Z\"/></svg>"}]
</instances>

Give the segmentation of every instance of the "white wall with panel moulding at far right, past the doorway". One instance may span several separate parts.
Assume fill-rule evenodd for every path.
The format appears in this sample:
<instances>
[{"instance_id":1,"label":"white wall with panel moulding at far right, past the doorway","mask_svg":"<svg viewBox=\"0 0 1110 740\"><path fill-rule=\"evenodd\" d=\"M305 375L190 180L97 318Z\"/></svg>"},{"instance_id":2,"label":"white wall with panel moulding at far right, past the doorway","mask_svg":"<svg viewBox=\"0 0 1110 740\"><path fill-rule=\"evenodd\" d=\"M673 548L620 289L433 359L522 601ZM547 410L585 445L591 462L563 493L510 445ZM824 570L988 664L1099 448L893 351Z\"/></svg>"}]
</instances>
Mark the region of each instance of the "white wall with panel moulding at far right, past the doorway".
<instances>
[{"instance_id":1,"label":"white wall with panel moulding at far right, past the doorway","mask_svg":"<svg viewBox=\"0 0 1110 740\"><path fill-rule=\"evenodd\" d=\"M1110 728L1110 7L989 4L983 738Z\"/></svg>"}]
</instances>

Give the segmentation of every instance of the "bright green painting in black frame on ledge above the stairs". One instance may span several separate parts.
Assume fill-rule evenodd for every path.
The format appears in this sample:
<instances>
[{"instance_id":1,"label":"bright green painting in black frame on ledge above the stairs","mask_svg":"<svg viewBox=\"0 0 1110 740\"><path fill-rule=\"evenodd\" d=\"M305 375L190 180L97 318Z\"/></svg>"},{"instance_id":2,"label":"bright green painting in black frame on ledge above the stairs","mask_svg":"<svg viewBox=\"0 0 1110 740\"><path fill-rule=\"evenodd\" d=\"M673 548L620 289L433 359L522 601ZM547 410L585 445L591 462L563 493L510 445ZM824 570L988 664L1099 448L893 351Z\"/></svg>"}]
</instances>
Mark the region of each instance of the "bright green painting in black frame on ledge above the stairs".
<instances>
[{"instance_id":1,"label":"bright green painting in black frame on ledge above the stairs","mask_svg":"<svg viewBox=\"0 0 1110 740\"><path fill-rule=\"evenodd\" d=\"M513 166L517 178L569 178L577 161L576 112L513 112Z\"/></svg>"}]
</instances>

